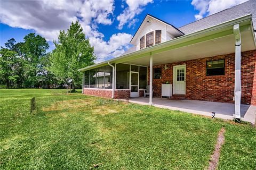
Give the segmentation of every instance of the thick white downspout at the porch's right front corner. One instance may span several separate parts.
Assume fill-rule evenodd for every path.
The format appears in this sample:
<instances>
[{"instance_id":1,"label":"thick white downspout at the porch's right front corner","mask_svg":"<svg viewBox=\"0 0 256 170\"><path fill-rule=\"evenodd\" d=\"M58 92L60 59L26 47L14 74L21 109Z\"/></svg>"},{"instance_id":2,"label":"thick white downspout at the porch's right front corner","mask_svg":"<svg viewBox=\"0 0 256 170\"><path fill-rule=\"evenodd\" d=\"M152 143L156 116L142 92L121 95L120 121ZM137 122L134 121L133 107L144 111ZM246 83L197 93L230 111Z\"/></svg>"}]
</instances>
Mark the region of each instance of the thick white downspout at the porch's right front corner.
<instances>
[{"instance_id":1,"label":"thick white downspout at the porch's right front corner","mask_svg":"<svg viewBox=\"0 0 256 170\"><path fill-rule=\"evenodd\" d=\"M241 121L241 34L239 30L239 24L234 25L235 35L235 120Z\"/></svg>"}]
</instances>

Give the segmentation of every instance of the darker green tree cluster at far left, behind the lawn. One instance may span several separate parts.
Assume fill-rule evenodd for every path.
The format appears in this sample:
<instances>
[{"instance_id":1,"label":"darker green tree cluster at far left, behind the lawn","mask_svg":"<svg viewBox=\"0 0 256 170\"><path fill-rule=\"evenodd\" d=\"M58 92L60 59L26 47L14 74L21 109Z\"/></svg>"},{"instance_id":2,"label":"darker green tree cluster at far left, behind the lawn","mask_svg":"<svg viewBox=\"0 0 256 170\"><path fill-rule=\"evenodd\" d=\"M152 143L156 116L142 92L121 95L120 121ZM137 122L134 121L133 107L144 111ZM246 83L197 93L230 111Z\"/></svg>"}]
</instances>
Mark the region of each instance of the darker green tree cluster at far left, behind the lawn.
<instances>
[{"instance_id":1,"label":"darker green tree cluster at far left, behind the lawn","mask_svg":"<svg viewBox=\"0 0 256 170\"><path fill-rule=\"evenodd\" d=\"M42 77L49 44L46 39L29 33L24 42L16 43L9 39L5 47L1 47L0 78L6 86L39 87L42 86ZM48 60L49 61L49 60Z\"/></svg>"}]
</instances>

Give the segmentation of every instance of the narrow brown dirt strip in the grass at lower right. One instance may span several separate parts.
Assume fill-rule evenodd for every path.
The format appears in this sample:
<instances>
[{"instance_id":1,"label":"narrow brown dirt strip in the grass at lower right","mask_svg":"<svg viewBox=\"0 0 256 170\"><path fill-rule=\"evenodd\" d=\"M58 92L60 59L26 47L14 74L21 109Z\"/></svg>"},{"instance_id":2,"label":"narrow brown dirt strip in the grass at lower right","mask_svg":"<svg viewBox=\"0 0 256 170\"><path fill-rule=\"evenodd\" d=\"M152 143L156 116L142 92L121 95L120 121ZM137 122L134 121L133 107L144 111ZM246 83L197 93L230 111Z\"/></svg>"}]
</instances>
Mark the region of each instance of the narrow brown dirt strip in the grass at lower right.
<instances>
[{"instance_id":1,"label":"narrow brown dirt strip in the grass at lower right","mask_svg":"<svg viewBox=\"0 0 256 170\"><path fill-rule=\"evenodd\" d=\"M213 151L211 160L209 161L209 167L208 170L214 170L217 168L218 162L219 162L219 157L220 157L220 149L221 146L223 145L224 141L225 141L225 129L221 128L219 134L218 134L218 139L217 139L217 143L215 145L215 149Z\"/></svg>"}]
</instances>

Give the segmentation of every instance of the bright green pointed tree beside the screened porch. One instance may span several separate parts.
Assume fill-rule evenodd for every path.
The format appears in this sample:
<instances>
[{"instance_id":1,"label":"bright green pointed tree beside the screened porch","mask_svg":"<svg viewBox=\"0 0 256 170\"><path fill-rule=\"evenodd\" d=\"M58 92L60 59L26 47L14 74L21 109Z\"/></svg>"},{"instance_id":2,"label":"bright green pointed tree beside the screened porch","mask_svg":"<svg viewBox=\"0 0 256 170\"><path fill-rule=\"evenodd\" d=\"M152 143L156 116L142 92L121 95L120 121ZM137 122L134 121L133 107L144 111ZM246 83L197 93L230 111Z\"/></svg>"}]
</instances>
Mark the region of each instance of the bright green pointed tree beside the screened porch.
<instances>
[{"instance_id":1,"label":"bright green pointed tree beside the screened porch","mask_svg":"<svg viewBox=\"0 0 256 170\"><path fill-rule=\"evenodd\" d=\"M58 42L53 43L56 48L50 57L49 70L59 81L66 82L67 78L71 78L75 86L78 86L82 82L82 76L77 70L94 64L96 59L83 28L78 21L72 22L67 32L60 31Z\"/></svg>"}]
</instances>

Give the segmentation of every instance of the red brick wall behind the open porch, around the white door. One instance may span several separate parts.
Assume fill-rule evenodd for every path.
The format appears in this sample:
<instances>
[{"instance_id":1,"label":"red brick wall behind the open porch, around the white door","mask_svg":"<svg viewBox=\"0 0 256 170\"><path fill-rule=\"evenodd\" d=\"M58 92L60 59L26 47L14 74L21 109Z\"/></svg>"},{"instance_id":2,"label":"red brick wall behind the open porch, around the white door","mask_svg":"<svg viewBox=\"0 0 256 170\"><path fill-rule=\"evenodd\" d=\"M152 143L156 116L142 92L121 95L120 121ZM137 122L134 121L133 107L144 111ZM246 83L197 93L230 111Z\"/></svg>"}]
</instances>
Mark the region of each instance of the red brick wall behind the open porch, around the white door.
<instances>
[{"instance_id":1,"label":"red brick wall behind the open porch, around the white door","mask_svg":"<svg viewBox=\"0 0 256 170\"><path fill-rule=\"evenodd\" d=\"M225 59L225 75L206 76L206 61L221 59ZM255 61L256 50L242 53L242 104L256 105ZM153 79L154 96L161 96L162 83L169 81L173 84L173 66L182 64L186 64L187 99L234 103L235 54L170 63L166 64L167 70L164 69L165 64L153 66L162 67L162 79Z\"/></svg>"}]
</instances>

